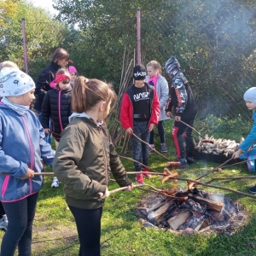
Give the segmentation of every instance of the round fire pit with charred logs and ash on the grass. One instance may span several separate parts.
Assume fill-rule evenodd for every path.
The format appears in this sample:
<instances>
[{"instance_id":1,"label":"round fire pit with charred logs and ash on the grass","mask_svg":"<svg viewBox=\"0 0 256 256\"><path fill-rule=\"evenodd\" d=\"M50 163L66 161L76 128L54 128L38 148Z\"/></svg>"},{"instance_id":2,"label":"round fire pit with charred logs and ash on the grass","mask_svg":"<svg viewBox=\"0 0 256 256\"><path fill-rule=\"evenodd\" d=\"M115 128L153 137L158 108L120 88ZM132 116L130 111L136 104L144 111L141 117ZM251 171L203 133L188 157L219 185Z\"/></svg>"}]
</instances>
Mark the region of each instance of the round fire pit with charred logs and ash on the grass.
<instances>
[{"instance_id":1,"label":"round fire pit with charred logs and ash on the grass","mask_svg":"<svg viewBox=\"0 0 256 256\"><path fill-rule=\"evenodd\" d=\"M192 189L183 201L164 195L146 195L137 214L145 227L164 228L178 233L195 231L232 235L247 222L240 203L220 194ZM181 193L183 194L183 193Z\"/></svg>"}]
</instances>

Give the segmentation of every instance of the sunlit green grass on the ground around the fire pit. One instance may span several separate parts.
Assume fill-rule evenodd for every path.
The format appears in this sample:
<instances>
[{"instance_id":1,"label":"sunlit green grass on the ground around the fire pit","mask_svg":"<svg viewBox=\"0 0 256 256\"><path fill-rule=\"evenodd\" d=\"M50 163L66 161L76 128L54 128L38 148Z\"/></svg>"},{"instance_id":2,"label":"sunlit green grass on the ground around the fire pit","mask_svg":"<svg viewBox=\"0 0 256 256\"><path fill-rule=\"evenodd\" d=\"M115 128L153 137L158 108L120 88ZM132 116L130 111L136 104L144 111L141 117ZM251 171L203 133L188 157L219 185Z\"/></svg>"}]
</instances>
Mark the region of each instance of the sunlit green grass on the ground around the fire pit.
<instances>
[{"instance_id":1,"label":"sunlit green grass on the ground around the fire pit","mask_svg":"<svg viewBox=\"0 0 256 256\"><path fill-rule=\"evenodd\" d=\"M174 148L171 141L170 130L172 122L165 122L166 143L168 153L166 156L175 159ZM211 132L207 132L211 135ZM214 136L217 137L217 136ZM230 137L226 137L230 138ZM159 138L156 137L156 148L160 148ZM131 155L130 155L131 156ZM132 162L122 160L127 172L133 171ZM150 167L162 172L166 166L166 160L157 154L150 154ZM185 172L179 172L180 177L195 178L218 164L196 161ZM236 173L230 172L236 170ZM48 172L51 170L48 168ZM252 174L252 173L251 173ZM211 177L247 176L247 167L243 165L224 169L223 172L214 173L205 177L207 181ZM134 180L134 176L131 176ZM34 221L32 255L35 256L67 256L78 255L79 241L73 215L67 209L67 204L62 193L62 185L58 189L51 189L52 177L45 177L44 189L41 190L38 199L37 214ZM151 177L146 181L154 187L162 188L160 177ZM226 186L247 192L253 186L254 180L237 180L229 182L215 182L216 185ZM185 187L185 183L179 183ZM166 184L165 186L168 186ZM109 190L118 188L116 183L109 184ZM168 230L153 228L144 229L137 221L136 208L143 195L147 192L133 189L131 192L119 192L111 195L103 208L102 215L102 256L110 255L157 255L157 256L252 256L256 255L256 200L228 191L202 188L207 191L224 193L226 196L239 201L247 210L249 220L247 224L237 230L233 236L214 235L206 236L195 234L191 236L175 235ZM0 237L3 236L0 231Z\"/></svg>"}]
</instances>

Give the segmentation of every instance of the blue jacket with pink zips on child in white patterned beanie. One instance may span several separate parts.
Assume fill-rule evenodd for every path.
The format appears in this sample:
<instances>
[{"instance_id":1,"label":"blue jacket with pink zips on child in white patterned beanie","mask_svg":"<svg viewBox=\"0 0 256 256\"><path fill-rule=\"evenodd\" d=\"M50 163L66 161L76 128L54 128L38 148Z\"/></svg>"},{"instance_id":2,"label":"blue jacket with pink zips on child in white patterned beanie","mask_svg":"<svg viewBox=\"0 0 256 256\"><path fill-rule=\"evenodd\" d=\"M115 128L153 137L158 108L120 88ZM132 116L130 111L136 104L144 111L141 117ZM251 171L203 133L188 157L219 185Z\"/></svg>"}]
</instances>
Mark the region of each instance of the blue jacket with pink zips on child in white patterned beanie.
<instances>
[{"instance_id":1,"label":"blue jacket with pink zips on child in white patterned beanie","mask_svg":"<svg viewBox=\"0 0 256 256\"><path fill-rule=\"evenodd\" d=\"M42 189L42 176L20 178L27 168L44 172L41 158L52 166L54 156L55 151L44 141L44 128L34 113L27 110L21 115L0 102L0 201L19 201Z\"/></svg>"}]
</instances>

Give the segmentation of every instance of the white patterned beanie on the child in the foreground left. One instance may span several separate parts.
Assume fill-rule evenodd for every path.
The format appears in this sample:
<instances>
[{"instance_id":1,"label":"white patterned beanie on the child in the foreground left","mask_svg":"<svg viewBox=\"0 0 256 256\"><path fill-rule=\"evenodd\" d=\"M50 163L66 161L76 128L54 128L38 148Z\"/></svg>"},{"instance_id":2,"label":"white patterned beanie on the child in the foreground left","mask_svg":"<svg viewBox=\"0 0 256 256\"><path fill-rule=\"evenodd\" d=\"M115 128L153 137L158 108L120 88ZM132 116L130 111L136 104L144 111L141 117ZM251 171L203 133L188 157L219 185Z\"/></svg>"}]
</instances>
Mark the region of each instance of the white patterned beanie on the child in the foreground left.
<instances>
[{"instance_id":1,"label":"white patterned beanie on the child in the foreground left","mask_svg":"<svg viewBox=\"0 0 256 256\"><path fill-rule=\"evenodd\" d=\"M16 67L3 67L0 72L0 96L20 96L35 88L33 79Z\"/></svg>"}]
</instances>

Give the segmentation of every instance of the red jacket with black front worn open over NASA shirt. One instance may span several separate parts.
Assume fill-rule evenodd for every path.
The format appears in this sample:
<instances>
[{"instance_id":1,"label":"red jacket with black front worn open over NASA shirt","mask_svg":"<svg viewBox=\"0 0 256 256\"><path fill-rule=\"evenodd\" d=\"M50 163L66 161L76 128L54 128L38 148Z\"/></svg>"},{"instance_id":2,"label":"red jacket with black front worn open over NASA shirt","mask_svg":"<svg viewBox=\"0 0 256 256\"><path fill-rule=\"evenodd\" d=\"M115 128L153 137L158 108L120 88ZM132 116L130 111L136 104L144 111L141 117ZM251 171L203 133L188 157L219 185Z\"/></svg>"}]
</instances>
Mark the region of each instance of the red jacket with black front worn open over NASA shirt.
<instances>
[{"instance_id":1,"label":"red jacket with black front worn open over NASA shirt","mask_svg":"<svg viewBox=\"0 0 256 256\"><path fill-rule=\"evenodd\" d=\"M125 94L122 99L121 105L121 112L120 112L120 119L123 128L126 130L127 128L131 127L133 130L133 105L132 105L132 84L128 90L125 91ZM145 83L145 86L148 86L149 98L150 98L150 119L148 122L148 126L151 124L157 125L158 118L160 115L160 104L158 101L158 97L154 87Z\"/></svg>"}]
</instances>

